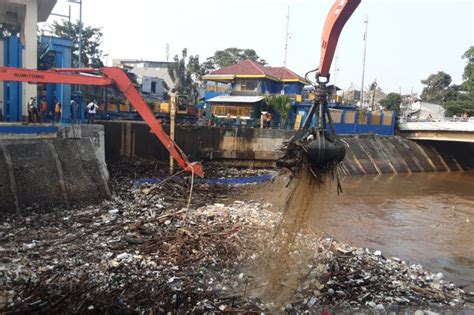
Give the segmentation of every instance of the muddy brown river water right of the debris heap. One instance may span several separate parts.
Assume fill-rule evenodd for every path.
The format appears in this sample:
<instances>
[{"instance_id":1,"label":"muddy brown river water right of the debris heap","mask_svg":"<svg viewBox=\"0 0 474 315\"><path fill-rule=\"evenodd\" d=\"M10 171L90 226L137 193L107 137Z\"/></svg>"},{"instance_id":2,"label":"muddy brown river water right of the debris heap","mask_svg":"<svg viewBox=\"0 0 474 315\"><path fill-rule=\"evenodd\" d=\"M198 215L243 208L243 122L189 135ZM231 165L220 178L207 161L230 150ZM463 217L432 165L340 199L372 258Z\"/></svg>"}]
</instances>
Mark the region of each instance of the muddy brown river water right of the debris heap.
<instances>
[{"instance_id":1,"label":"muddy brown river water right of the debris heap","mask_svg":"<svg viewBox=\"0 0 474 315\"><path fill-rule=\"evenodd\" d=\"M311 225L474 291L474 172L346 177ZM334 189L335 190L335 189Z\"/></svg>"}]
</instances>

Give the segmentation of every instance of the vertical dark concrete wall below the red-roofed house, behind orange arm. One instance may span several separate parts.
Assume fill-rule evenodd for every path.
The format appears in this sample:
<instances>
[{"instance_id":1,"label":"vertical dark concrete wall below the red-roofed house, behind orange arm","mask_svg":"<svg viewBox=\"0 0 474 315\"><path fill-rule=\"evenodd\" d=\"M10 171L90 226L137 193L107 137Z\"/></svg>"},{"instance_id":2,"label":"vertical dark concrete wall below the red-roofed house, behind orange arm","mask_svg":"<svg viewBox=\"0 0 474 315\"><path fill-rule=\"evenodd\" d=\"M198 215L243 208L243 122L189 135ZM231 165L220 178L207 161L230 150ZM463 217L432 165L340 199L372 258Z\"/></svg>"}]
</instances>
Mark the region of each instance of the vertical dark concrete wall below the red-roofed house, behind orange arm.
<instances>
[{"instance_id":1,"label":"vertical dark concrete wall below the red-roofed house, behind orange arm","mask_svg":"<svg viewBox=\"0 0 474 315\"><path fill-rule=\"evenodd\" d=\"M169 153L142 122L101 122L105 126L105 152L108 161L120 157L142 157L165 161ZM164 126L168 133L169 128ZM278 148L292 131L251 128L179 126L175 141L193 161L234 159L275 161Z\"/></svg>"}]
</instances>

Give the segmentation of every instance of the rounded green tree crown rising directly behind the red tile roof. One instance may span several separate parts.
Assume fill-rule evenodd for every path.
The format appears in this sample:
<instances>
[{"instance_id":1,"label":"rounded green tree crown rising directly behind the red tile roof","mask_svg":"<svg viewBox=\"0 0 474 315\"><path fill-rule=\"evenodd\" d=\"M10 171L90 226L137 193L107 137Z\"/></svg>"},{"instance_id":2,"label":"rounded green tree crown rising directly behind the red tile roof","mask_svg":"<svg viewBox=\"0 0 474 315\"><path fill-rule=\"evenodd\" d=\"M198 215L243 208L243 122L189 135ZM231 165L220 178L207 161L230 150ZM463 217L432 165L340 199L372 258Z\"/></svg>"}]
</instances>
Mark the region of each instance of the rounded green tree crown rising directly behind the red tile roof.
<instances>
[{"instance_id":1,"label":"rounded green tree crown rising directly behind the red tile roof","mask_svg":"<svg viewBox=\"0 0 474 315\"><path fill-rule=\"evenodd\" d=\"M227 67L244 60L253 60L262 65L266 65L267 62L260 58L255 50L253 49L240 49L236 47L226 48L224 50L218 50L214 53L214 56L209 57L202 64L201 74L207 74L213 70Z\"/></svg>"}]
</instances>

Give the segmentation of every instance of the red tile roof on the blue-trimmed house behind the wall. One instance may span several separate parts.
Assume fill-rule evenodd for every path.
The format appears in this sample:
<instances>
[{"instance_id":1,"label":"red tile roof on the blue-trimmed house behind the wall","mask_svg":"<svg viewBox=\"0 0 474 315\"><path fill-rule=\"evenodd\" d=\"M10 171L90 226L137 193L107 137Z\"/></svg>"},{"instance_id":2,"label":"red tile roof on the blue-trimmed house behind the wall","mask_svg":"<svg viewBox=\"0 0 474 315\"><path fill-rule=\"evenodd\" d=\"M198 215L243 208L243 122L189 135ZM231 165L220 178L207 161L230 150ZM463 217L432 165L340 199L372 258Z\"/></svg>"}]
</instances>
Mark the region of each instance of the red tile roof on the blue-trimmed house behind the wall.
<instances>
[{"instance_id":1,"label":"red tile roof on the blue-trimmed house behind the wall","mask_svg":"<svg viewBox=\"0 0 474 315\"><path fill-rule=\"evenodd\" d=\"M244 60L235 65L223 67L211 72L209 75L262 76L275 81L308 83L303 77L300 77L288 68L265 67L252 60Z\"/></svg>"}]
</instances>

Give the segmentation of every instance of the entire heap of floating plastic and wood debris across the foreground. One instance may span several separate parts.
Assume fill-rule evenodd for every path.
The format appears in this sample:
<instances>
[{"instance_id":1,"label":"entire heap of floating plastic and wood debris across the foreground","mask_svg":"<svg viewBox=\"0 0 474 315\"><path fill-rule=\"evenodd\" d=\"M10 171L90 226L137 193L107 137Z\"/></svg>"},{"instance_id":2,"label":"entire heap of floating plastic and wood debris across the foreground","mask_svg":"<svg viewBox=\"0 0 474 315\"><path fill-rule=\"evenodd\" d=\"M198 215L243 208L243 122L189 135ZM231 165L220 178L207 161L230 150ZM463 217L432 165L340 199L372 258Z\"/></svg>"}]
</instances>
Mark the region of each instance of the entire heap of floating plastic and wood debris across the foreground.
<instances>
[{"instance_id":1,"label":"entire heap of floating plastic and wood debris across the foreground","mask_svg":"<svg viewBox=\"0 0 474 315\"><path fill-rule=\"evenodd\" d=\"M188 209L183 181L137 187L133 179L156 174L123 167L112 174L112 200L0 223L0 313L385 312L473 302L442 274L301 233L288 252L301 262L298 281L274 301L259 274L281 251L281 216L271 204L226 206L231 189L209 185L194 187ZM289 285L290 271L274 290Z\"/></svg>"}]
</instances>

